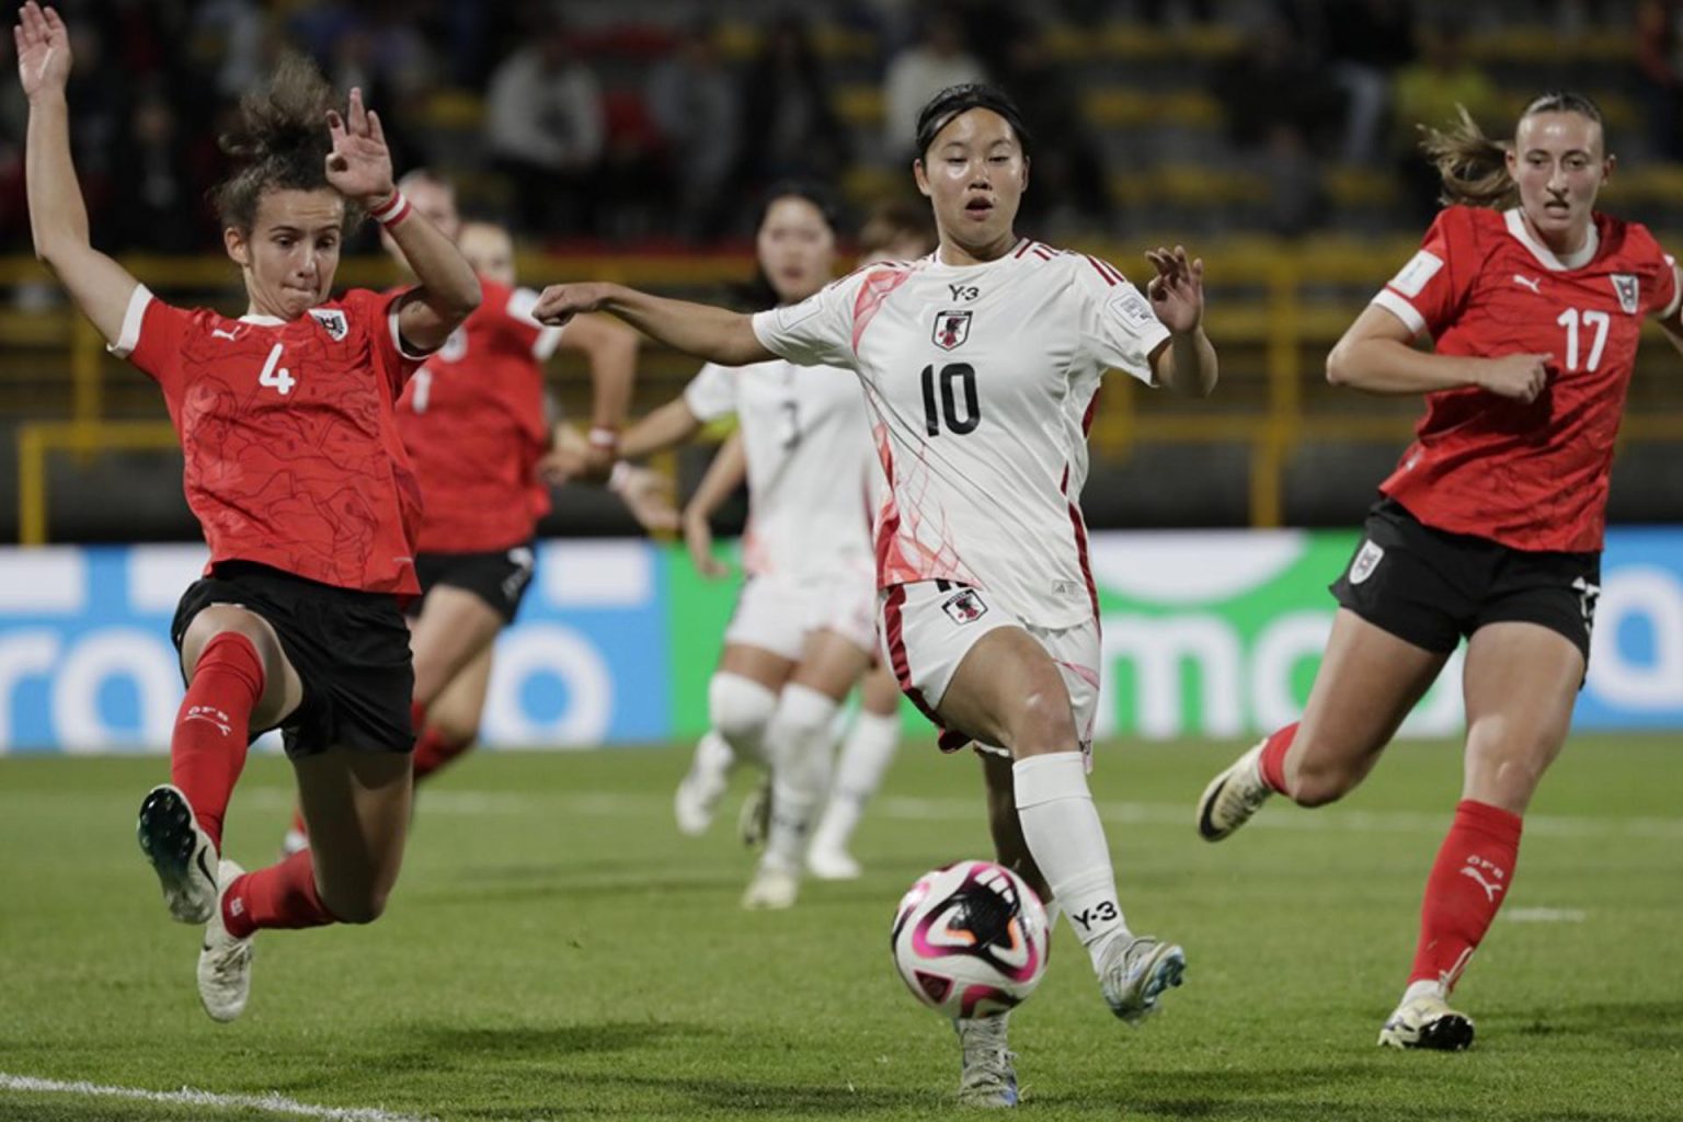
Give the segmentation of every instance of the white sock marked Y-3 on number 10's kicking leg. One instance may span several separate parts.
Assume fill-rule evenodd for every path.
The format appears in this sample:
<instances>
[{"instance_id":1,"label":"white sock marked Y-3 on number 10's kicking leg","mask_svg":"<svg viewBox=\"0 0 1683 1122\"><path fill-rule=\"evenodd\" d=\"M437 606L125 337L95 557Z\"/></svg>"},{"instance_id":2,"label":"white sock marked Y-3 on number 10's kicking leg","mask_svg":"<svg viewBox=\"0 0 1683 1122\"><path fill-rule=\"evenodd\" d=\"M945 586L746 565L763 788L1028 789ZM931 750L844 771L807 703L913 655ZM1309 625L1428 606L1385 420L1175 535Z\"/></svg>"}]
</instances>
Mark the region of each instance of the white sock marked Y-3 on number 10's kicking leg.
<instances>
[{"instance_id":1,"label":"white sock marked Y-3 on number 10's kicking leg","mask_svg":"<svg viewBox=\"0 0 1683 1122\"><path fill-rule=\"evenodd\" d=\"M1030 755L1011 764L1011 779L1028 853L1099 969L1111 942L1128 937L1128 922L1116 902L1111 849L1082 755Z\"/></svg>"}]
</instances>

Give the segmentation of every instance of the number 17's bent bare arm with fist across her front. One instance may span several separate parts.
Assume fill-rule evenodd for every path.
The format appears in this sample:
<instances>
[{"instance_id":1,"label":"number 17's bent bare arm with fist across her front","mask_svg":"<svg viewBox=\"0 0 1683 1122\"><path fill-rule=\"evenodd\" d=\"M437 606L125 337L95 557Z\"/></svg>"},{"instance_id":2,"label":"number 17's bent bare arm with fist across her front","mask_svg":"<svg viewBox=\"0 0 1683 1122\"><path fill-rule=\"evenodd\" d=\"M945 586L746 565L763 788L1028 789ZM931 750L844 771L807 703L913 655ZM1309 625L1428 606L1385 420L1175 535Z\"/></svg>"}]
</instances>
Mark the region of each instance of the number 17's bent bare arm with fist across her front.
<instances>
[{"instance_id":1,"label":"number 17's bent bare arm with fist across her front","mask_svg":"<svg viewBox=\"0 0 1683 1122\"><path fill-rule=\"evenodd\" d=\"M1326 380L1368 394L1431 394L1476 385L1500 397L1535 400L1553 355L1468 358L1414 348L1414 331L1395 313L1368 304L1326 355Z\"/></svg>"}]
</instances>

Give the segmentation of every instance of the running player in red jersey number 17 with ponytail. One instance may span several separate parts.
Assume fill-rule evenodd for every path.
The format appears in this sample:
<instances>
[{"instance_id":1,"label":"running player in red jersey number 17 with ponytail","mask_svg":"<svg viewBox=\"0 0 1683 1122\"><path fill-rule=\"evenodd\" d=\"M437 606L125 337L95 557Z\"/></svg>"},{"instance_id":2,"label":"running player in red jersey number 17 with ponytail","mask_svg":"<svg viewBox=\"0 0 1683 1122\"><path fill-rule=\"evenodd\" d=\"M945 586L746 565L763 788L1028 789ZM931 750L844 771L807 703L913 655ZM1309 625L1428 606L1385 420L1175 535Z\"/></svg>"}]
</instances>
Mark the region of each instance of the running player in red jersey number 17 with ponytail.
<instances>
[{"instance_id":1,"label":"running player in red jersey number 17 with ponytail","mask_svg":"<svg viewBox=\"0 0 1683 1122\"><path fill-rule=\"evenodd\" d=\"M1333 584L1303 720L1210 782L1198 831L1220 841L1276 792L1313 807L1351 791L1466 636L1461 802L1378 1038L1457 1050L1473 1021L1449 991L1508 898L1521 816L1584 681L1638 335L1648 316L1673 341L1683 326L1671 257L1594 210L1612 156L1587 98L1538 98L1511 143L1463 114L1426 151L1451 205L1326 360L1333 384L1424 394L1426 417Z\"/></svg>"}]
</instances>

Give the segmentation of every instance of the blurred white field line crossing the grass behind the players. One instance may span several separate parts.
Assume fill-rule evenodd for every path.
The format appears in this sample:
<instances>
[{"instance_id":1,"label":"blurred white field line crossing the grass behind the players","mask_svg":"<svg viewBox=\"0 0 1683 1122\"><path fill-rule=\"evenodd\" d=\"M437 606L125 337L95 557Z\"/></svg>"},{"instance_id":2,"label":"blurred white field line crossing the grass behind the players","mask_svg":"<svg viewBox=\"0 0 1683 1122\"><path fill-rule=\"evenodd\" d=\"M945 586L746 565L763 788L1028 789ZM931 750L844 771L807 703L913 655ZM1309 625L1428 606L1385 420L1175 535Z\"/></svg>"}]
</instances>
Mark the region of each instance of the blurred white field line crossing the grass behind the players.
<instances>
[{"instance_id":1,"label":"blurred white field line crossing the grass behind the players","mask_svg":"<svg viewBox=\"0 0 1683 1122\"><path fill-rule=\"evenodd\" d=\"M239 799L259 809L291 807L296 796L286 787L241 789ZM1281 799L1284 802L1284 799ZM666 818L672 799L653 794L613 791L557 791L555 794L517 794L507 791L427 791L421 796L427 814L446 816L562 816L562 818ZM1099 816L1124 826L1185 826L1192 829L1192 801L1178 802L1101 802ZM981 796L974 799L912 799L882 796L867 816L964 823L981 821ZM1289 829L1299 833L1351 834L1441 834L1449 829L1449 807L1437 814L1410 811L1299 811L1291 806L1267 807L1247 829ZM1683 818L1579 818L1530 814L1528 836L1557 838L1683 838Z\"/></svg>"}]
</instances>

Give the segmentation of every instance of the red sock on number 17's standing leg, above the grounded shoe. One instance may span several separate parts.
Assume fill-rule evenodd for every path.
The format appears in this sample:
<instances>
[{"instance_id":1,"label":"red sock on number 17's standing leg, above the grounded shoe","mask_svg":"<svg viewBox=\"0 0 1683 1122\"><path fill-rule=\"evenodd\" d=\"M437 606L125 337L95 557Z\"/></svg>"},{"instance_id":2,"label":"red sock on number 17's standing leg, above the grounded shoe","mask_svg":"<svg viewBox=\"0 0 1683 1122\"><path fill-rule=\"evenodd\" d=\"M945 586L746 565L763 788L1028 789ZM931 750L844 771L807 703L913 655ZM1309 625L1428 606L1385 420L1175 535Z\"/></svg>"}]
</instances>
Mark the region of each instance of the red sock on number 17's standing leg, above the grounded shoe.
<instances>
[{"instance_id":1,"label":"red sock on number 17's standing leg, above the grounded shoe","mask_svg":"<svg viewBox=\"0 0 1683 1122\"><path fill-rule=\"evenodd\" d=\"M1521 824L1518 814L1486 802L1463 799L1456 806L1456 821L1426 880L1410 984L1441 981L1451 989L1461 979L1513 885Z\"/></svg>"}]
</instances>

